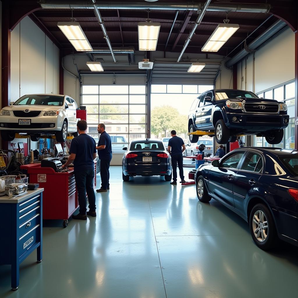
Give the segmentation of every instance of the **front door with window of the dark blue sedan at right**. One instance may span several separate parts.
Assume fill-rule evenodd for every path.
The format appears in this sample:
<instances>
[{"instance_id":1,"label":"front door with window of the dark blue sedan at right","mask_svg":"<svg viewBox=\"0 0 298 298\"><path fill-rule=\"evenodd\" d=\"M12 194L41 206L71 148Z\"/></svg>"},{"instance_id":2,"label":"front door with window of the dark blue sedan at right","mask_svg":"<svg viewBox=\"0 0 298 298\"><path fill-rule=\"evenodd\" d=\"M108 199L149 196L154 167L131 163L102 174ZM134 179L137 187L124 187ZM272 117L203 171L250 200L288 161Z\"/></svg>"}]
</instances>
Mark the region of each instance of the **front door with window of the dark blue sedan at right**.
<instances>
[{"instance_id":1,"label":"front door with window of the dark blue sedan at right","mask_svg":"<svg viewBox=\"0 0 298 298\"><path fill-rule=\"evenodd\" d=\"M227 155L221 160L218 167L212 167L209 171L209 187L212 195L231 207L235 207L233 180L244 153L245 151L238 151Z\"/></svg>"}]
</instances>

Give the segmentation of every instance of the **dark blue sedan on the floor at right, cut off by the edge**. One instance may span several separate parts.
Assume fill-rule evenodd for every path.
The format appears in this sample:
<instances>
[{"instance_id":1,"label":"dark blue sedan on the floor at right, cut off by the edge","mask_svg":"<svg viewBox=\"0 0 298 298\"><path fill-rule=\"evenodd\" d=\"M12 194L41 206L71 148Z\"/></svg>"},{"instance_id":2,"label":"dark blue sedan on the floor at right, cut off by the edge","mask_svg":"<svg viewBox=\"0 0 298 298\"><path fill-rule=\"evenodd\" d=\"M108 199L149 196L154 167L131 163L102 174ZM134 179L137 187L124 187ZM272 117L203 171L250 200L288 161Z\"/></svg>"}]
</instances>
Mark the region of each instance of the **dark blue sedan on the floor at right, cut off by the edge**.
<instances>
[{"instance_id":1,"label":"dark blue sedan on the floor at right, cut off by the edge","mask_svg":"<svg viewBox=\"0 0 298 298\"><path fill-rule=\"evenodd\" d=\"M198 199L214 198L240 215L261 249L277 238L298 246L298 151L235 149L201 165L195 181Z\"/></svg>"}]
</instances>

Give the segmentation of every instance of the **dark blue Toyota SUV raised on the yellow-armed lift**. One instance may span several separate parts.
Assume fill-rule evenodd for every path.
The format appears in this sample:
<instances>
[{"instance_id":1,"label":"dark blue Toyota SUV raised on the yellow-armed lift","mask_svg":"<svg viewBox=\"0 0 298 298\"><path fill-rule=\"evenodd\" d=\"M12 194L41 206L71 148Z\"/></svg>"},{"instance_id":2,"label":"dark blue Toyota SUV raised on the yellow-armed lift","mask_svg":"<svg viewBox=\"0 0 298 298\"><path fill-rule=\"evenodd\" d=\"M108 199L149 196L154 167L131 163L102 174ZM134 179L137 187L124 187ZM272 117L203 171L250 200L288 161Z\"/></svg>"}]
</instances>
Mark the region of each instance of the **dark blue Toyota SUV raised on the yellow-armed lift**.
<instances>
[{"instance_id":1,"label":"dark blue Toyota SUV raised on the yellow-armed lift","mask_svg":"<svg viewBox=\"0 0 298 298\"><path fill-rule=\"evenodd\" d=\"M215 89L193 102L188 132L210 132L218 144L235 142L238 135L264 136L269 144L279 144L288 123L285 103L259 98L250 91ZM198 142L199 135L189 137L190 142Z\"/></svg>"}]
</instances>

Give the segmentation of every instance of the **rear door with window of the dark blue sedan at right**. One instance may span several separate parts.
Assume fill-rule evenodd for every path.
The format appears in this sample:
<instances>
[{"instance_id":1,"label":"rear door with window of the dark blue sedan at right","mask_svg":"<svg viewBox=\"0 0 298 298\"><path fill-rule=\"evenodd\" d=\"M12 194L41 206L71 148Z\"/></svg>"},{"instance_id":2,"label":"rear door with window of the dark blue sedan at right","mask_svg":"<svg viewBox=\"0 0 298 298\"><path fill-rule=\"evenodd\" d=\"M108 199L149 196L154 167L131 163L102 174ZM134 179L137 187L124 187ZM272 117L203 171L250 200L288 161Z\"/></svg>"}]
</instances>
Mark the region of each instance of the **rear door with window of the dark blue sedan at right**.
<instances>
[{"instance_id":1,"label":"rear door with window of the dark blue sedan at right","mask_svg":"<svg viewBox=\"0 0 298 298\"><path fill-rule=\"evenodd\" d=\"M234 177L235 209L245 214L246 199L250 197L262 176L264 159L259 153L248 152Z\"/></svg>"}]
</instances>

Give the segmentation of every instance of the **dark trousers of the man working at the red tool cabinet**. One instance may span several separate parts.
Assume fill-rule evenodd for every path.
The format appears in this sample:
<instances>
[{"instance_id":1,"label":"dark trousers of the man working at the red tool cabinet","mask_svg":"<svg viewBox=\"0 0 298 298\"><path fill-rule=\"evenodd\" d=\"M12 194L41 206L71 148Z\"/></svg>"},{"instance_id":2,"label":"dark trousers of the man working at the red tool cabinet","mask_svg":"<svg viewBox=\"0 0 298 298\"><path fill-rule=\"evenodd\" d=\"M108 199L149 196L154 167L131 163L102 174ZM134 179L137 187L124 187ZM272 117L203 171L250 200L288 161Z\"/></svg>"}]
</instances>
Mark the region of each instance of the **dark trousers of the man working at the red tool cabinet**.
<instances>
[{"instance_id":1,"label":"dark trousers of the man working at the red tool cabinet","mask_svg":"<svg viewBox=\"0 0 298 298\"><path fill-rule=\"evenodd\" d=\"M87 198L89 201L89 210L95 211L95 193L93 189L94 168L90 170L75 171L75 183L77 184L78 201L80 205L80 214L86 214Z\"/></svg>"}]
</instances>

